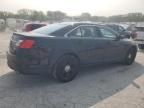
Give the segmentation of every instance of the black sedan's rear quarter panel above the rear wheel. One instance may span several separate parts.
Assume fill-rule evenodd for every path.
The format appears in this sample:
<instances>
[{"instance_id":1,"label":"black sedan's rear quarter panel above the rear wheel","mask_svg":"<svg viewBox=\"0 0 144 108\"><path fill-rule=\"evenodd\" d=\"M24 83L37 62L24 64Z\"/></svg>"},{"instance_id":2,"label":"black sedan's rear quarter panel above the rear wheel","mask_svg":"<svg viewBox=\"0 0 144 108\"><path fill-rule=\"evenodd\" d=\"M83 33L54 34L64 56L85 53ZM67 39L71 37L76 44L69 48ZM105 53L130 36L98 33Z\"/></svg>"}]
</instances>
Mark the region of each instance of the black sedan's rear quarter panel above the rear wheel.
<instances>
[{"instance_id":1,"label":"black sedan's rear quarter panel above the rear wheel","mask_svg":"<svg viewBox=\"0 0 144 108\"><path fill-rule=\"evenodd\" d=\"M79 46L80 39L52 37L37 39L38 46L48 51L49 63L53 65L65 54L75 54L79 57L82 47Z\"/></svg>"}]
</instances>

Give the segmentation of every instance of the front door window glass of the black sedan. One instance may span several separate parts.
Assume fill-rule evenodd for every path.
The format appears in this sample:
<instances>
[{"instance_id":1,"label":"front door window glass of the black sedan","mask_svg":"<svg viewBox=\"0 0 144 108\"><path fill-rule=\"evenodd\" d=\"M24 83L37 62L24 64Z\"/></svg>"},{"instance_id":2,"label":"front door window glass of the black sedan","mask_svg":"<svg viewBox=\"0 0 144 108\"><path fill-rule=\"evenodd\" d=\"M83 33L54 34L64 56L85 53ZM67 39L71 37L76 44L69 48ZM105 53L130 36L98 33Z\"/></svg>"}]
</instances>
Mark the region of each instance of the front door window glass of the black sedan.
<instances>
[{"instance_id":1,"label":"front door window glass of the black sedan","mask_svg":"<svg viewBox=\"0 0 144 108\"><path fill-rule=\"evenodd\" d=\"M104 38L116 38L116 34L107 28L100 28L100 31Z\"/></svg>"}]
</instances>

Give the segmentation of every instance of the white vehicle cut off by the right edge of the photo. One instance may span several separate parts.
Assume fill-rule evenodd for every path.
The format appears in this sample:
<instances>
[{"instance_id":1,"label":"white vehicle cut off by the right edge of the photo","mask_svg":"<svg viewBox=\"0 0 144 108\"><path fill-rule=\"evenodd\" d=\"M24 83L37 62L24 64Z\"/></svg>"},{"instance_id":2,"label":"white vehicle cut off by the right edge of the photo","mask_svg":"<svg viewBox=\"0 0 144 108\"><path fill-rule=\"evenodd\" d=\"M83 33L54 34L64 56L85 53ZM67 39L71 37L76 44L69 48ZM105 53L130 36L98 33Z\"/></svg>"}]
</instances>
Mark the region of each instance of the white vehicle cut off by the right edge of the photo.
<instances>
[{"instance_id":1,"label":"white vehicle cut off by the right edge of the photo","mask_svg":"<svg viewBox=\"0 0 144 108\"><path fill-rule=\"evenodd\" d=\"M138 44L139 49L144 49L144 25L136 25L137 37L134 41Z\"/></svg>"}]
</instances>

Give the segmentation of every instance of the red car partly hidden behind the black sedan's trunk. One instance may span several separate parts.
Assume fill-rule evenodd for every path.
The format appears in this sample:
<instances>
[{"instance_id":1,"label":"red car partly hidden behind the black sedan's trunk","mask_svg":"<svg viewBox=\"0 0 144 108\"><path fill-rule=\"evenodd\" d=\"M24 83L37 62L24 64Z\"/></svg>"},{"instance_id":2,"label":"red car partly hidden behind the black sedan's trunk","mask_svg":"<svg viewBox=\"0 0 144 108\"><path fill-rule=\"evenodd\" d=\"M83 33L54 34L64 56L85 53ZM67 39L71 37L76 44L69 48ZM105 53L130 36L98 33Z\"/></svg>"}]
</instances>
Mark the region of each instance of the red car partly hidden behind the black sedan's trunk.
<instances>
[{"instance_id":1,"label":"red car partly hidden behind the black sedan's trunk","mask_svg":"<svg viewBox=\"0 0 144 108\"><path fill-rule=\"evenodd\" d=\"M40 27L46 26L46 24L43 23L27 23L24 25L22 31L23 32L29 32L35 29L38 29Z\"/></svg>"}]
</instances>

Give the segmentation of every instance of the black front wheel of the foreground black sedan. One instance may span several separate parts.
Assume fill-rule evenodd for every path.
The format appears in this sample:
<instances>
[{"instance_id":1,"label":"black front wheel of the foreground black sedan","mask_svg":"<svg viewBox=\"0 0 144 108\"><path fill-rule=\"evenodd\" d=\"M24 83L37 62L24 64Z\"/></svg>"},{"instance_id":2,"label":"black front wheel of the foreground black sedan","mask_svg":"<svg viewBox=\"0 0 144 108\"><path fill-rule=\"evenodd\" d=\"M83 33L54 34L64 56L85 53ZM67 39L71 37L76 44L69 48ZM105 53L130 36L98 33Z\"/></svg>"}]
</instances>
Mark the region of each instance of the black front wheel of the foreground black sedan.
<instances>
[{"instance_id":1,"label":"black front wheel of the foreground black sedan","mask_svg":"<svg viewBox=\"0 0 144 108\"><path fill-rule=\"evenodd\" d=\"M136 48L130 48L125 56L124 64L131 65L135 60L136 53L137 53Z\"/></svg>"}]
</instances>

